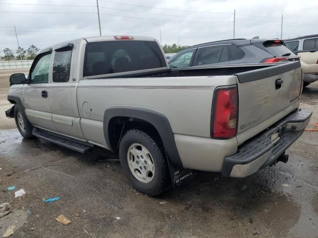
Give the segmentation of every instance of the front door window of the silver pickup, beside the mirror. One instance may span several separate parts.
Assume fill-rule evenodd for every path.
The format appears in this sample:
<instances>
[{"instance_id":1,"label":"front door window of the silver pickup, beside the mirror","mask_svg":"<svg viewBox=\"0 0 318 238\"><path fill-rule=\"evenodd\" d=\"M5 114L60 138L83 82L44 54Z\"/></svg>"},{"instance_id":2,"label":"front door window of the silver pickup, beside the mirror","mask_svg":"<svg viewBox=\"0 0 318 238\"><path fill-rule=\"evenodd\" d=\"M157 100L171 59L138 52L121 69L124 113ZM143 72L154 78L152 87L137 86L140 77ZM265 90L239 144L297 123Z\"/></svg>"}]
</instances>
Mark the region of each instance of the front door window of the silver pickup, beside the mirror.
<instances>
[{"instance_id":1,"label":"front door window of the silver pickup, beside the mirror","mask_svg":"<svg viewBox=\"0 0 318 238\"><path fill-rule=\"evenodd\" d=\"M31 69L30 83L47 83L49 82L49 70L51 61L51 52L39 55Z\"/></svg>"}]
</instances>

